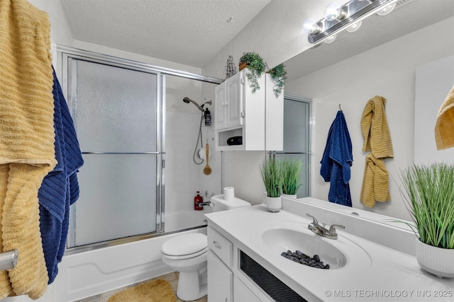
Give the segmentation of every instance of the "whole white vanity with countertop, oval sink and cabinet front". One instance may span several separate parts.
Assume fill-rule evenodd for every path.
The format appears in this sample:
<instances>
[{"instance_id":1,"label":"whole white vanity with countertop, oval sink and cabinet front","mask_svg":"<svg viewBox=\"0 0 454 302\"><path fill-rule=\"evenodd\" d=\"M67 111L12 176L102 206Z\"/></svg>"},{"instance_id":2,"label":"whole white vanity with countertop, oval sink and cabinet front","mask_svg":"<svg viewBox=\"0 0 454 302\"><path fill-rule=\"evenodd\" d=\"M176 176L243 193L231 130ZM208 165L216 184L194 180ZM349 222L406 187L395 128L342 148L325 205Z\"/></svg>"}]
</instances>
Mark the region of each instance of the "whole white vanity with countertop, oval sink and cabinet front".
<instances>
[{"instance_id":1,"label":"whole white vanity with countertop, oval sink and cabinet front","mask_svg":"<svg viewBox=\"0 0 454 302\"><path fill-rule=\"evenodd\" d=\"M316 235L306 213L345 229L337 240ZM414 233L362 214L312 198L284 198L278 213L258 205L206 214L208 300L453 301L454 279L438 279L416 262ZM317 253L331 267L301 265L282 257L287 250Z\"/></svg>"}]
</instances>

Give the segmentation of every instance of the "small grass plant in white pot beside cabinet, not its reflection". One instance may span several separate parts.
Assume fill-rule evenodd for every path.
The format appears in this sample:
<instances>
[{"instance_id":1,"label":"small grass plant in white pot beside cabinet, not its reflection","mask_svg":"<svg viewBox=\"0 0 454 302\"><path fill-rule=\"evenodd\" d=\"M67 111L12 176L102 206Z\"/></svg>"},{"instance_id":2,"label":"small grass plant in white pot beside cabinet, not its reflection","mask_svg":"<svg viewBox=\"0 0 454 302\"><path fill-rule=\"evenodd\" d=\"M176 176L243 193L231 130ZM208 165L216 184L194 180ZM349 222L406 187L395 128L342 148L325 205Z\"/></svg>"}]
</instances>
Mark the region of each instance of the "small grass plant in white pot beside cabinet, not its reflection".
<instances>
[{"instance_id":1,"label":"small grass plant in white pot beside cabinet, not its reflection","mask_svg":"<svg viewBox=\"0 0 454 302\"><path fill-rule=\"evenodd\" d=\"M267 191L265 204L268 211L277 212L282 207L282 164L274 158L262 162L260 175Z\"/></svg>"}]
</instances>

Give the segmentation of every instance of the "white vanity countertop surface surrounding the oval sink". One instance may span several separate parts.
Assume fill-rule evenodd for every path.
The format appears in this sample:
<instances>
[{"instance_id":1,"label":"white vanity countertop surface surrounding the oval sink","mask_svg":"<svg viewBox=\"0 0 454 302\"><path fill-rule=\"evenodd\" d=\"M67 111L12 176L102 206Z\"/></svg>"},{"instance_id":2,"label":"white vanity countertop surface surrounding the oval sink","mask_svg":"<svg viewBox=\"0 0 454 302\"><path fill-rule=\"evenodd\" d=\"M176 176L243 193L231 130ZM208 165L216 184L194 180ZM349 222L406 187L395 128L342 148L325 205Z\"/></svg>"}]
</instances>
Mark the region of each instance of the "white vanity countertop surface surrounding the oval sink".
<instances>
[{"instance_id":1,"label":"white vanity countertop surface surrounding the oval sink","mask_svg":"<svg viewBox=\"0 0 454 302\"><path fill-rule=\"evenodd\" d=\"M319 236L342 250L347 264L316 269L285 259L260 238L260 230L270 223L291 221L307 228L309 219L284 210L272 213L261 205L206 214L206 218L209 226L308 301L454 301L454 279L438 279L424 272L415 257L354 236L348 229L338 230L338 240Z\"/></svg>"}]
</instances>

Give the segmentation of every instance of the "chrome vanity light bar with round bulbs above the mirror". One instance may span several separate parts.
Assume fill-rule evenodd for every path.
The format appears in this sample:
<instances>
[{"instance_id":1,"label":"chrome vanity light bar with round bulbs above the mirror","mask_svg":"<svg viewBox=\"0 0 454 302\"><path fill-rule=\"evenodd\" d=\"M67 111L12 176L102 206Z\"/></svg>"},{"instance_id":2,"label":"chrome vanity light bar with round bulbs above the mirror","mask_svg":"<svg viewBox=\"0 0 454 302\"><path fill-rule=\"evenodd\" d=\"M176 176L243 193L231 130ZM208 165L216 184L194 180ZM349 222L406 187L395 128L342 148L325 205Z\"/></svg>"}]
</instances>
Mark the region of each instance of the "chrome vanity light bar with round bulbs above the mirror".
<instances>
[{"instance_id":1,"label":"chrome vanity light bar with round bulbs above the mirror","mask_svg":"<svg viewBox=\"0 0 454 302\"><path fill-rule=\"evenodd\" d=\"M399 0L350 0L343 5L333 2L326 6L324 18L321 20L309 18L304 21L303 31L313 44L330 43L341 30L345 29L350 33L358 30L362 20L374 13L387 15L394 9L397 1Z\"/></svg>"}]
</instances>

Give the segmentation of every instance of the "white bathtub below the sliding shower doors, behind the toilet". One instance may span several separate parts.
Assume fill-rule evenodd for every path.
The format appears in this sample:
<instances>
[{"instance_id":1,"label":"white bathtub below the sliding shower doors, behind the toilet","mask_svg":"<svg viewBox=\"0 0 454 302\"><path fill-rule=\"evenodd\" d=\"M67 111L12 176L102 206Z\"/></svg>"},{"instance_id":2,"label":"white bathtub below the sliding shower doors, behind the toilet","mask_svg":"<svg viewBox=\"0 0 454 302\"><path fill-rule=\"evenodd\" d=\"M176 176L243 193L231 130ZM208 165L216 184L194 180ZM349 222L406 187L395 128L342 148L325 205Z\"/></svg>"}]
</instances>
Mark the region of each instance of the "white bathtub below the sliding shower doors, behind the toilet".
<instances>
[{"instance_id":1,"label":"white bathtub below the sliding shower doors, behind the toilet","mask_svg":"<svg viewBox=\"0 0 454 302\"><path fill-rule=\"evenodd\" d=\"M206 211L166 215L166 233L206 225ZM162 262L160 249L183 233L206 234L206 227L65 255L54 281L55 301L79 300L172 272Z\"/></svg>"}]
</instances>

